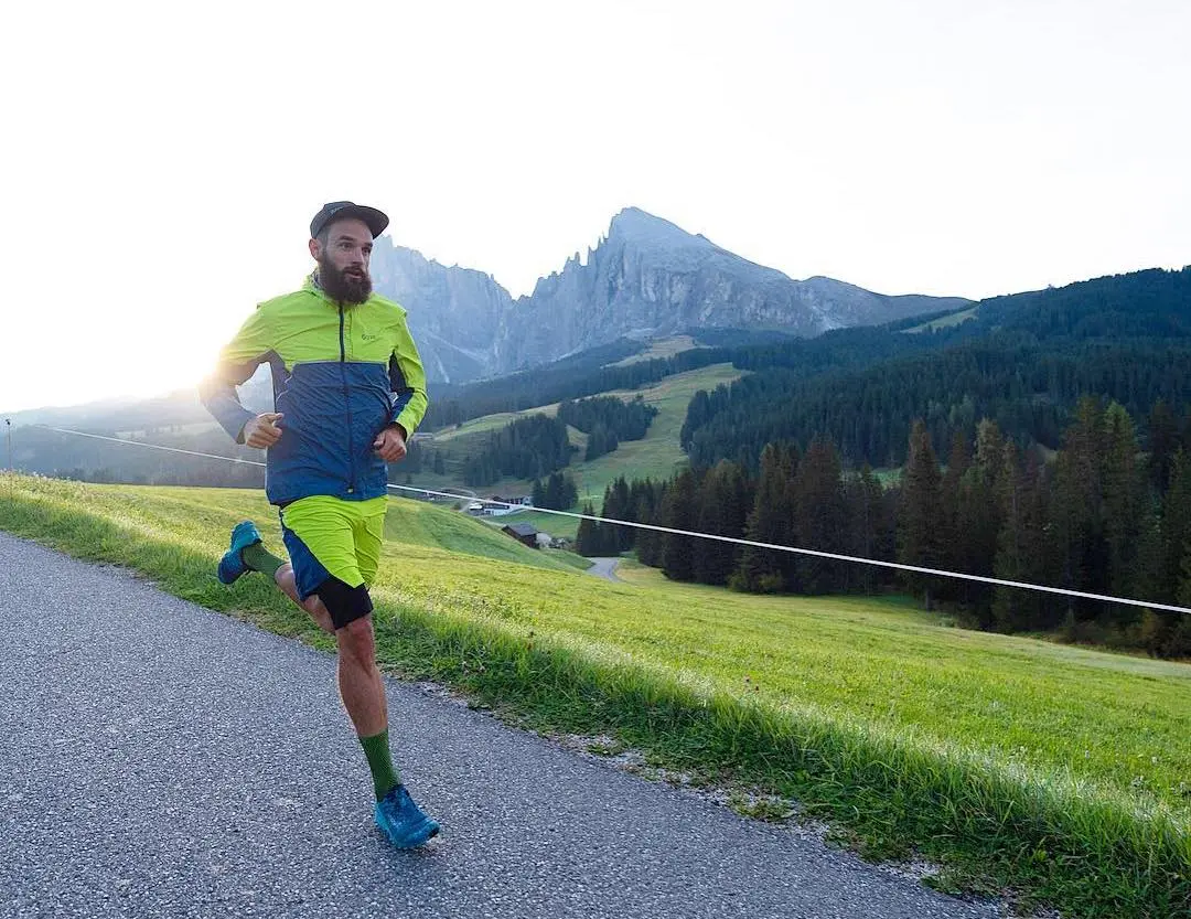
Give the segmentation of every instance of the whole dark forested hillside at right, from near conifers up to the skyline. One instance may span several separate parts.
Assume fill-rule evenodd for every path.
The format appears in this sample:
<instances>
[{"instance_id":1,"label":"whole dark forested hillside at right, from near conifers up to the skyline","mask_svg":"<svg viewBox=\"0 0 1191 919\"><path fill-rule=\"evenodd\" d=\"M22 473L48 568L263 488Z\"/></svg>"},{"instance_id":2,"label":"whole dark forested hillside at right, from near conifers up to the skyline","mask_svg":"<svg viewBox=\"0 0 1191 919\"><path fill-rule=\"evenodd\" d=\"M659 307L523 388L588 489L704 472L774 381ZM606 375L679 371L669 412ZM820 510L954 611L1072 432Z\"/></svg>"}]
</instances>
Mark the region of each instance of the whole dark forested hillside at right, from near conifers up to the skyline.
<instances>
[{"instance_id":1,"label":"whole dark forested hillside at right, from near conifers up to the skyline","mask_svg":"<svg viewBox=\"0 0 1191 919\"><path fill-rule=\"evenodd\" d=\"M1191 399L1191 268L985 300L939 333L897 328L735 354L754 372L691 400L680 437L692 464L755 472L766 443L805 449L823 434L850 462L900 466L918 418L935 443L971 439L987 417L1054 449L1086 393L1137 417Z\"/></svg>"}]
</instances>

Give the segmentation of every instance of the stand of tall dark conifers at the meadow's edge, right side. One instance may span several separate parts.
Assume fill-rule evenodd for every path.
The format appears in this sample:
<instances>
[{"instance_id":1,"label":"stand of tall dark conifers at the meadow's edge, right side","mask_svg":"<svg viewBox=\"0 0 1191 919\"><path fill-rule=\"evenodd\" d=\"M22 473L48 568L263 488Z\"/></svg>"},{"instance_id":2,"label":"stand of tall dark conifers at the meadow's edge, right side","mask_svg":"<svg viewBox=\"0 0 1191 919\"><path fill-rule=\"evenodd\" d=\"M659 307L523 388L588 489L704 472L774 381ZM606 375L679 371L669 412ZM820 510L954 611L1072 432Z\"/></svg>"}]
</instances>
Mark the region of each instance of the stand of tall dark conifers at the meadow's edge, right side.
<instances>
[{"instance_id":1,"label":"stand of tall dark conifers at the meadow's edge, right side","mask_svg":"<svg viewBox=\"0 0 1191 919\"><path fill-rule=\"evenodd\" d=\"M603 516L1153 603L1191 604L1191 431L1156 402L1146 442L1116 402L1081 398L1058 451L981 418L941 462L918 418L899 480L846 471L829 436L768 443L668 482L612 483ZM1142 446L1146 451L1142 452ZM754 592L910 590L961 625L1191 656L1191 616L1015 588L899 575L819 557L585 521L584 554L632 549L674 580Z\"/></svg>"}]
</instances>

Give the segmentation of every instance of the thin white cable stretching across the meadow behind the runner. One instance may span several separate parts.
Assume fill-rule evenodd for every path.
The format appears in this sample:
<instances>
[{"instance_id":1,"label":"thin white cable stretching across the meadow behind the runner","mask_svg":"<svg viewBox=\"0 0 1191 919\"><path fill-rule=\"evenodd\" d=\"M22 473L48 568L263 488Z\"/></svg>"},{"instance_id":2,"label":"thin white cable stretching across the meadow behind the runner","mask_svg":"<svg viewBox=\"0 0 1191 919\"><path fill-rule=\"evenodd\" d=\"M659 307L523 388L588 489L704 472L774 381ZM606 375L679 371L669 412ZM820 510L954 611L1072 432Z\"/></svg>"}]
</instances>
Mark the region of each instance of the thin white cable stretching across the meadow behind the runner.
<instances>
[{"instance_id":1,"label":"thin white cable stretching across the meadow behind the runner","mask_svg":"<svg viewBox=\"0 0 1191 919\"><path fill-rule=\"evenodd\" d=\"M40 427L40 426L38 426ZM202 457L204 459L219 459L227 462L241 462L247 466L264 466L263 462L257 462L255 460L239 459L238 457L220 457L213 453L198 453L195 451L181 449L179 447L162 447L157 443L143 443L136 440L121 440L120 437L106 437L100 434L86 434L81 430L70 430L68 428L50 428L46 430L57 431L58 434L73 434L77 437L92 437L93 440L106 440L112 443L123 443L129 447L145 447L148 449L160 449L167 453L181 453L187 457ZM422 489L416 485L388 485L389 489L395 489L398 491L412 491L418 495L435 495L438 497L451 498L455 501L467 499L462 495L453 495L449 491L435 491L434 489ZM524 504L513 504L507 501L486 501L485 504L497 504L504 508L513 508L518 510L524 510ZM1105 603L1121 603L1128 607L1143 607L1146 609L1160 609L1166 613L1183 613L1184 615L1191 615L1191 609L1186 607L1174 607L1168 603L1152 603L1146 600L1131 600L1129 597L1114 597L1108 594L1089 594L1083 590L1068 590L1067 588L1052 588L1047 584L1031 584L1024 580L1006 580L1004 578L990 578L984 575L965 575L959 571L943 571L942 569L929 569L922 567L919 565L903 565L898 561L881 561L879 559L860 558L858 555L842 555L837 552L821 552L813 548L799 548L797 546L780 546L774 542L757 542L752 539L741 539L738 536L721 536L715 533L696 533L690 529L675 529L673 527L660 527L654 523L638 523L632 520L615 520L610 517L597 517L591 514L574 514L569 510L553 510L550 508L532 508L537 514L554 514L559 517L573 517L574 520L591 520L596 523L615 523L618 527L635 527L637 529L649 529L656 533L668 533L675 536L693 536L696 539L710 539L716 542L730 542L736 546L752 546L753 548L765 548L772 549L774 552L794 552L799 555L813 555L815 558L827 558L834 561L850 561L858 565L874 565L877 567L893 569L896 571L912 571L917 575L934 575L942 578L955 578L959 580L977 580L981 584L994 584L1003 588L1019 588L1022 590L1037 590L1046 594L1059 594L1065 597L1079 597L1081 600L1099 600Z\"/></svg>"}]
</instances>

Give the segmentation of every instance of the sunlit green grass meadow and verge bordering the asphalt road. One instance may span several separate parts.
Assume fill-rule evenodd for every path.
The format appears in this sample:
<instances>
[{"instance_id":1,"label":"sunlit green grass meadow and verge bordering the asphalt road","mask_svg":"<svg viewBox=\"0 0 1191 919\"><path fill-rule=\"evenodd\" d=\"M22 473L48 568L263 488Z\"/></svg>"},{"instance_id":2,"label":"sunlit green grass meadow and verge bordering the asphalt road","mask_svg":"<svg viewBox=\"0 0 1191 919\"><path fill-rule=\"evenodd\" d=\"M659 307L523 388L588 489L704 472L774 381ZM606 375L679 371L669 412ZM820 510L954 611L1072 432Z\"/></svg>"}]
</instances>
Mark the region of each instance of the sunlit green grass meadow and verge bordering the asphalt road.
<instances>
[{"instance_id":1,"label":"sunlit green grass meadow and verge bordering the asphalt road","mask_svg":"<svg viewBox=\"0 0 1191 919\"><path fill-rule=\"evenodd\" d=\"M0 528L326 647L263 579L216 582L244 515L276 541L252 492L0 477ZM631 563L612 584L409 501L388 538L374 595L392 672L794 800L866 855L941 863L947 888L1191 914L1191 666L946 628L903 601L752 597Z\"/></svg>"}]
</instances>

